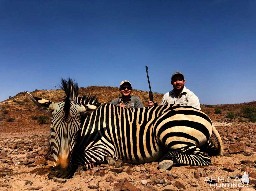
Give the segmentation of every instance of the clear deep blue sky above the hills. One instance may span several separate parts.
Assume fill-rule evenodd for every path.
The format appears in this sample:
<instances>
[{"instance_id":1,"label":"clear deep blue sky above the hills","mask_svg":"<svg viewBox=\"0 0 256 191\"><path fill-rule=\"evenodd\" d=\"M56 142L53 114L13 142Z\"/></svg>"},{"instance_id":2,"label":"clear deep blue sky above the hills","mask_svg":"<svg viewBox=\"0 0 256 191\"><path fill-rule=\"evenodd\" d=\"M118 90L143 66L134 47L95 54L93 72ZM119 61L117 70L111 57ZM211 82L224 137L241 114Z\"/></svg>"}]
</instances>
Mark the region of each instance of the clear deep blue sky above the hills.
<instances>
[{"instance_id":1,"label":"clear deep blue sky above the hills","mask_svg":"<svg viewBox=\"0 0 256 191\"><path fill-rule=\"evenodd\" d=\"M256 1L0 1L0 101L23 91L129 80L202 104L256 100Z\"/></svg>"}]
</instances>

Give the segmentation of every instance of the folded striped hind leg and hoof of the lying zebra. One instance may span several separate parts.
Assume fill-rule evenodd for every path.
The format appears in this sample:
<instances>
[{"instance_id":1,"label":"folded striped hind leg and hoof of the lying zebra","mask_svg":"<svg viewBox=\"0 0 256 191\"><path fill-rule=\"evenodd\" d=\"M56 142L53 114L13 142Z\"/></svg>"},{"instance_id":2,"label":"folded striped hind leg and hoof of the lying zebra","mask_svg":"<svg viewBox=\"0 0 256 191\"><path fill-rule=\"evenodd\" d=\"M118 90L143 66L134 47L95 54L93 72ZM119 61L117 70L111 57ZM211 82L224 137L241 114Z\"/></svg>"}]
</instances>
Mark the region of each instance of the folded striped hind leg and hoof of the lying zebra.
<instances>
[{"instance_id":1,"label":"folded striped hind leg and hoof of the lying zebra","mask_svg":"<svg viewBox=\"0 0 256 191\"><path fill-rule=\"evenodd\" d=\"M182 164L182 165L193 165L193 166L204 166L210 165L211 159L200 151L196 146L190 146L187 149L180 151L169 151L163 158L160 159L159 169L168 168L168 163ZM171 162L172 161L172 162ZM168 167L168 168L167 168Z\"/></svg>"}]
</instances>

